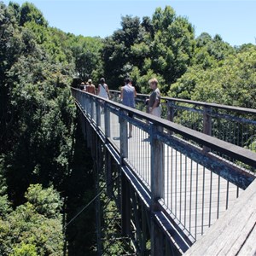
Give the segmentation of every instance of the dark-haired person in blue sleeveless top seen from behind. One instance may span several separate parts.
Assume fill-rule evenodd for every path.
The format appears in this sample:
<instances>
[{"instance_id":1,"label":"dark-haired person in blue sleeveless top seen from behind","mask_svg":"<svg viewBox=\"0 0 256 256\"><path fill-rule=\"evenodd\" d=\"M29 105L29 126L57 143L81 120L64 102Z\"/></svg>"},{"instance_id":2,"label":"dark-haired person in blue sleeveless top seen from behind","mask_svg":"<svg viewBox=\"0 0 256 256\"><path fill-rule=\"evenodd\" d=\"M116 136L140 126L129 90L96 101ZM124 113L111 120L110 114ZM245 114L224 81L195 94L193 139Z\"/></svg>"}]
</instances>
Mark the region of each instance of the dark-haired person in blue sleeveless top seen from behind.
<instances>
[{"instance_id":1,"label":"dark-haired person in blue sleeveless top seen from behind","mask_svg":"<svg viewBox=\"0 0 256 256\"><path fill-rule=\"evenodd\" d=\"M135 87L131 84L131 79L125 79L125 86L121 87L120 98L121 102L130 108L135 108L135 97L137 92ZM132 118L132 113L129 113L129 116ZM132 125L129 123L129 137L132 137Z\"/></svg>"}]
</instances>

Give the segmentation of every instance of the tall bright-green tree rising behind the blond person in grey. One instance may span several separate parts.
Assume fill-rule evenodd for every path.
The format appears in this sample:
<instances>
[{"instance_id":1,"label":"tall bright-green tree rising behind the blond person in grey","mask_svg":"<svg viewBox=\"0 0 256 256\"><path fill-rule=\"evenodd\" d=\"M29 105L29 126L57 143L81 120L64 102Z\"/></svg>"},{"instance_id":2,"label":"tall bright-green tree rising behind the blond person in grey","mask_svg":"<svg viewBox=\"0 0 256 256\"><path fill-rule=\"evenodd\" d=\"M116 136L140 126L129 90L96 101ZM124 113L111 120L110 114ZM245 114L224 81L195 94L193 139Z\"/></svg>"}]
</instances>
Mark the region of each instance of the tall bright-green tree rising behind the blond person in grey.
<instances>
[{"instance_id":1,"label":"tall bright-green tree rising behind the blond person in grey","mask_svg":"<svg viewBox=\"0 0 256 256\"><path fill-rule=\"evenodd\" d=\"M194 54L194 28L186 18L175 15L171 7L156 9L153 15L154 42L152 69L166 81L163 92L176 82L190 65Z\"/></svg>"}]
</instances>

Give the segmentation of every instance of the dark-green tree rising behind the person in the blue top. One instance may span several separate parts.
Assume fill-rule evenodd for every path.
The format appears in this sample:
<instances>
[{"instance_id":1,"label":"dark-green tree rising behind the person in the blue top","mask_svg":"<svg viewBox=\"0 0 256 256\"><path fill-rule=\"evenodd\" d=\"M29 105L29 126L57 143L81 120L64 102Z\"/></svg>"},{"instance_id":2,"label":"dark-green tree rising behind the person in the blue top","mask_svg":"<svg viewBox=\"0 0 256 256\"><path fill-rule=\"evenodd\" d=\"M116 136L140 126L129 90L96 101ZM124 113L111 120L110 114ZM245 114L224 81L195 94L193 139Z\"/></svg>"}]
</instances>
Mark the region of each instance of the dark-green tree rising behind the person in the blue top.
<instances>
[{"instance_id":1,"label":"dark-green tree rising behind the person in the blue top","mask_svg":"<svg viewBox=\"0 0 256 256\"><path fill-rule=\"evenodd\" d=\"M138 17L126 15L122 17L121 28L105 39L102 59L110 87L118 88L132 67L143 63L143 55L148 52L147 44L143 43L147 40L145 33Z\"/></svg>"}]
</instances>

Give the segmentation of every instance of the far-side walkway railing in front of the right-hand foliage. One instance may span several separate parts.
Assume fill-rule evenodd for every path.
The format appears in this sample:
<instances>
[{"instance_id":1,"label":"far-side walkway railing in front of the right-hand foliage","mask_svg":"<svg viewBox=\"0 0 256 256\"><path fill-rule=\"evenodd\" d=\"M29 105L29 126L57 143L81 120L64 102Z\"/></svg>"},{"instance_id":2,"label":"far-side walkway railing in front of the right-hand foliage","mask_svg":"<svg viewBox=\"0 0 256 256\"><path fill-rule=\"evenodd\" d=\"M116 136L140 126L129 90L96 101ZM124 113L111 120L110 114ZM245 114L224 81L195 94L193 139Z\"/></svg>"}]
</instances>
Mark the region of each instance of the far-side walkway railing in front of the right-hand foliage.
<instances>
[{"instance_id":1,"label":"far-side walkway railing in front of the right-hand foliage","mask_svg":"<svg viewBox=\"0 0 256 256\"><path fill-rule=\"evenodd\" d=\"M119 102L118 90L110 90ZM137 109L145 111L148 95L137 95ZM256 151L256 109L162 97L162 118L201 131L225 142Z\"/></svg>"}]
</instances>

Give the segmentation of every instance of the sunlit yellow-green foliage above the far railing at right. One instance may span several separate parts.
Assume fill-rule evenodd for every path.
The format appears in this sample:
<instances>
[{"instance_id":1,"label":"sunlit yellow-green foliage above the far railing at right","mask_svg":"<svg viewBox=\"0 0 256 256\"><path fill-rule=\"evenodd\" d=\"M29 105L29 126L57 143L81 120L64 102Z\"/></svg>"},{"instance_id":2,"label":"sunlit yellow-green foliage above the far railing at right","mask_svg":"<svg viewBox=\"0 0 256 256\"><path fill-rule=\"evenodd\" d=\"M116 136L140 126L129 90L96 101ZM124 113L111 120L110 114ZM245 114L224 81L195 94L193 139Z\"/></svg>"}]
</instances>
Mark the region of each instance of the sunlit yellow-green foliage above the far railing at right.
<instances>
[{"instance_id":1,"label":"sunlit yellow-green foliage above the far railing at right","mask_svg":"<svg viewBox=\"0 0 256 256\"><path fill-rule=\"evenodd\" d=\"M219 66L191 67L172 85L170 96L256 108L255 57L254 46L228 55Z\"/></svg>"}]
</instances>

